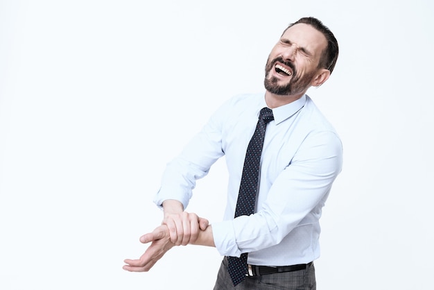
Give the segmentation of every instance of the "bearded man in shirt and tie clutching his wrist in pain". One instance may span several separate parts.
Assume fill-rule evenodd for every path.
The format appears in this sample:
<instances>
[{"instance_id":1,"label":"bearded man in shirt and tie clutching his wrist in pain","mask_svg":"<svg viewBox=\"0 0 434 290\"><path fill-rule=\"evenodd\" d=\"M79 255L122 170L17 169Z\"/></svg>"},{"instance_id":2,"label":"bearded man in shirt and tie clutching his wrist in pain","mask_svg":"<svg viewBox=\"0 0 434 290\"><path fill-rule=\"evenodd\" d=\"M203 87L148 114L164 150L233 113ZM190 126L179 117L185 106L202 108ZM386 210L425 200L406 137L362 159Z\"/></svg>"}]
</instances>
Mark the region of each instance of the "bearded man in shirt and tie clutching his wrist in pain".
<instances>
[{"instance_id":1,"label":"bearded man in shirt and tie clutching his wrist in pain","mask_svg":"<svg viewBox=\"0 0 434 290\"><path fill-rule=\"evenodd\" d=\"M342 144L306 91L329 78L337 58L338 42L318 19L290 24L268 57L265 94L227 101L168 164L155 196L164 221L141 237L152 243L146 253L125 259L123 268L148 271L173 246L196 244L225 256L214 289L315 289L319 219L341 171ZM254 158L258 153L248 144L257 121L266 133L251 142L260 148ZM209 225L184 209L196 180L223 155L229 171L225 219ZM249 163L255 159L260 173ZM254 191L248 202L245 191ZM254 212L239 210L250 203Z\"/></svg>"}]
</instances>

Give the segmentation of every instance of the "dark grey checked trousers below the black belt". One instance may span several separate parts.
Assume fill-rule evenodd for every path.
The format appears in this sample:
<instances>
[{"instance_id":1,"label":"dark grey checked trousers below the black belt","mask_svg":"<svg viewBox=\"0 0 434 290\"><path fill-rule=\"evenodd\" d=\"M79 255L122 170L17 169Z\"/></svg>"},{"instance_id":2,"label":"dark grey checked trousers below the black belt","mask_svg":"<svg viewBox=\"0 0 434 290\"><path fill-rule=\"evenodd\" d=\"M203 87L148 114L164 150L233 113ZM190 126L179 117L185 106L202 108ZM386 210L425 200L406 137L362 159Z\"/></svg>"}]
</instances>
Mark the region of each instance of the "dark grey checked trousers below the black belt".
<instances>
[{"instance_id":1,"label":"dark grey checked trousers below the black belt","mask_svg":"<svg viewBox=\"0 0 434 290\"><path fill-rule=\"evenodd\" d=\"M246 277L243 282L232 284L231 277L227 272L227 257L218 271L214 290L316 290L315 267L313 264L305 270L276 273L263 276Z\"/></svg>"}]
</instances>

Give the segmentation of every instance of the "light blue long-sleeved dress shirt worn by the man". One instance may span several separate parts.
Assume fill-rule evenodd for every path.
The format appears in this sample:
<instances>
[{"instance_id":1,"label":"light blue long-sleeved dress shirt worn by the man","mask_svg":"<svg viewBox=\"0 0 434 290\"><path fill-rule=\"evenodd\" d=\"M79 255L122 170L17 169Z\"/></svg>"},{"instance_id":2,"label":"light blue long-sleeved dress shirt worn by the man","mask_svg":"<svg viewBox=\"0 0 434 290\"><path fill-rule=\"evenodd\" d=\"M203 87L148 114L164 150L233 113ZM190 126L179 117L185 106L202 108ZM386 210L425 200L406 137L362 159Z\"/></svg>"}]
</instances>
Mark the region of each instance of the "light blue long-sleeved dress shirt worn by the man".
<instances>
[{"instance_id":1,"label":"light blue long-sleeved dress shirt worn by the man","mask_svg":"<svg viewBox=\"0 0 434 290\"><path fill-rule=\"evenodd\" d=\"M226 101L168 163L154 202L175 199L186 208L196 180L225 155L225 216L212 223L220 255L249 253L249 264L265 266L309 263L320 256L319 219L342 169L342 144L309 96L272 109L275 119L266 128L256 211L234 219L245 151L266 106L265 94Z\"/></svg>"}]
</instances>

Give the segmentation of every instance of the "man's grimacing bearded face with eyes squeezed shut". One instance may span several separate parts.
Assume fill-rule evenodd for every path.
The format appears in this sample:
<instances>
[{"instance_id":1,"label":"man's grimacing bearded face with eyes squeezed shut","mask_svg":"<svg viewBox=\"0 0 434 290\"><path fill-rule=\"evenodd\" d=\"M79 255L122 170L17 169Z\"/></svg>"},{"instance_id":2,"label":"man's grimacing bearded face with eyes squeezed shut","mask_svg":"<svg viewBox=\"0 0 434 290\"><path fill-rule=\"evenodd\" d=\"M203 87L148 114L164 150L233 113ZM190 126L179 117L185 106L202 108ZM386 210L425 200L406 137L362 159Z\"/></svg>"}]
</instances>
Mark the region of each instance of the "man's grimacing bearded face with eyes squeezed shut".
<instances>
[{"instance_id":1,"label":"man's grimacing bearded face with eyes squeezed shut","mask_svg":"<svg viewBox=\"0 0 434 290\"><path fill-rule=\"evenodd\" d=\"M295 95L306 92L319 71L327 47L324 35L309 24L288 28L268 56L264 85L268 92Z\"/></svg>"}]
</instances>

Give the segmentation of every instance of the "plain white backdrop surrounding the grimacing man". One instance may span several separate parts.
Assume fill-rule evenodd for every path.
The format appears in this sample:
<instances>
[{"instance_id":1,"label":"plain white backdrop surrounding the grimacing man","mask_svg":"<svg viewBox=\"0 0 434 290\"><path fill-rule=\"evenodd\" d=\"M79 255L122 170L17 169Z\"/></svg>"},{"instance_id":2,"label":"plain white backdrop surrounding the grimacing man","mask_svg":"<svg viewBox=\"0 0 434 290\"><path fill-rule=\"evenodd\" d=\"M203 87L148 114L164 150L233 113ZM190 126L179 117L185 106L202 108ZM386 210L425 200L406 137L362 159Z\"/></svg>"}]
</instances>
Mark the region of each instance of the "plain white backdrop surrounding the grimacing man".
<instances>
[{"instance_id":1,"label":"plain white backdrop surrounding the grimacing man","mask_svg":"<svg viewBox=\"0 0 434 290\"><path fill-rule=\"evenodd\" d=\"M318 289L431 289L433 3L0 0L0 289L211 289L214 248L122 270L161 222L166 162L234 94L261 92L272 46L314 16L340 58L309 95L344 169L322 217ZM187 209L218 221L219 160Z\"/></svg>"}]
</instances>

